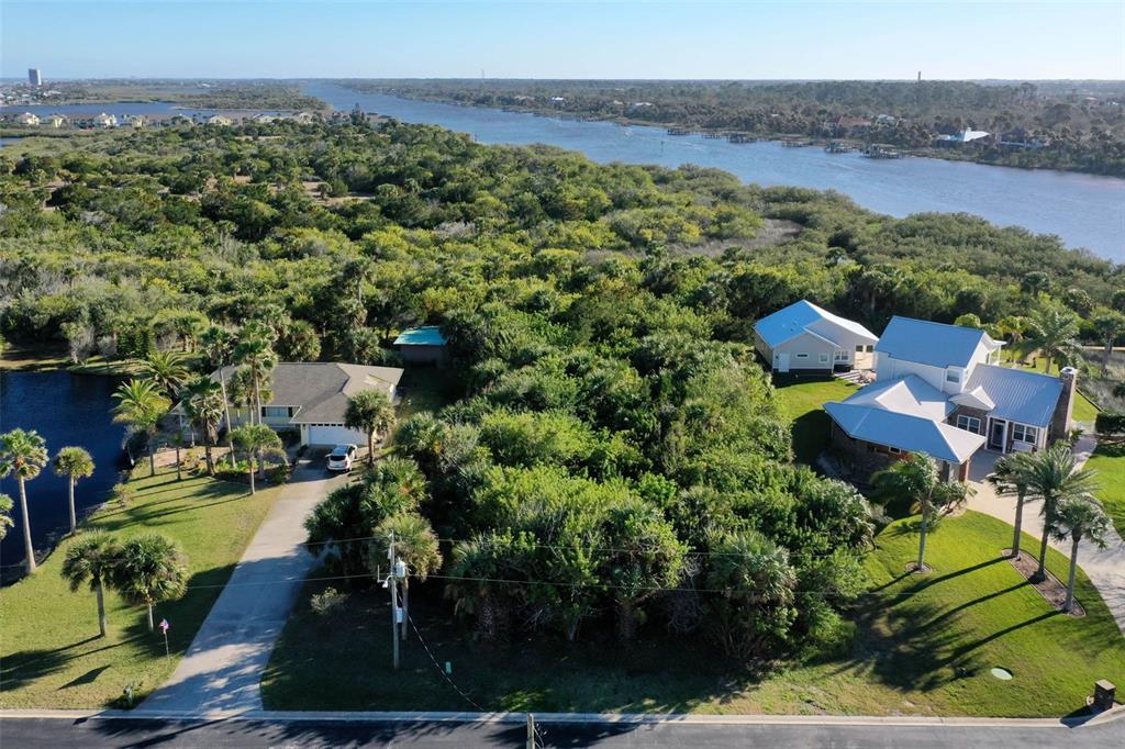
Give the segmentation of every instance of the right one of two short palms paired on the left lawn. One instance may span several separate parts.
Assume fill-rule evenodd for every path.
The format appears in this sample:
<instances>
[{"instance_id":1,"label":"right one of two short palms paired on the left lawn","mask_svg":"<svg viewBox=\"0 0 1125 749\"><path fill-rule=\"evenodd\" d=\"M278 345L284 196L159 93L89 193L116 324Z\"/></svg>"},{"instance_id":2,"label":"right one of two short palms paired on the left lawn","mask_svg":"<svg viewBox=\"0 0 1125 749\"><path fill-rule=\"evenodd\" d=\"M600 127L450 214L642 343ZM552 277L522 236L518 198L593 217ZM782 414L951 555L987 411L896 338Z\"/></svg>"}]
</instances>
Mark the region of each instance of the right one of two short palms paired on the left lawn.
<instances>
[{"instance_id":1,"label":"right one of two short palms paired on the left lawn","mask_svg":"<svg viewBox=\"0 0 1125 749\"><path fill-rule=\"evenodd\" d=\"M126 602L144 606L148 631L153 631L152 607L183 596L188 585L188 561L180 545L160 533L146 533L122 544L112 566L111 583Z\"/></svg>"}]
</instances>

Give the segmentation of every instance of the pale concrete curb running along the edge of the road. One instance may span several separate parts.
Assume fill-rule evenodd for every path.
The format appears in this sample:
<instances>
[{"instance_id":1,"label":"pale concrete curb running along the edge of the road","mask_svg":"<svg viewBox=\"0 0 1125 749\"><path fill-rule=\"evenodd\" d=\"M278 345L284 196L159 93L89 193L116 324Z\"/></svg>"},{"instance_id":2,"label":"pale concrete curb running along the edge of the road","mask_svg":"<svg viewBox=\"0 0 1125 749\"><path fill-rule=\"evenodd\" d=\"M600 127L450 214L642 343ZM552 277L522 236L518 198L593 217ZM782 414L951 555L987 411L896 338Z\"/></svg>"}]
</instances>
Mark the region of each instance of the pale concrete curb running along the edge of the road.
<instances>
[{"instance_id":1,"label":"pale concrete curb running along the edge of the road","mask_svg":"<svg viewBox=\"0 0 1125 749\"><path fill-rule=\"evenodd\" d=\"M1080 728L1125 720L1125 705L1089 719L1066 718L930 718L879 715L694 715L684 713L532 713L540 723L603 723L609 725L899 725L943 728ZM284 723L523 723L526 713L454 712L298 712L206 711L201 713L156 710L0 710L0 720L158 720L158 721L273 721Z\"/></svg>"}]
</instances>

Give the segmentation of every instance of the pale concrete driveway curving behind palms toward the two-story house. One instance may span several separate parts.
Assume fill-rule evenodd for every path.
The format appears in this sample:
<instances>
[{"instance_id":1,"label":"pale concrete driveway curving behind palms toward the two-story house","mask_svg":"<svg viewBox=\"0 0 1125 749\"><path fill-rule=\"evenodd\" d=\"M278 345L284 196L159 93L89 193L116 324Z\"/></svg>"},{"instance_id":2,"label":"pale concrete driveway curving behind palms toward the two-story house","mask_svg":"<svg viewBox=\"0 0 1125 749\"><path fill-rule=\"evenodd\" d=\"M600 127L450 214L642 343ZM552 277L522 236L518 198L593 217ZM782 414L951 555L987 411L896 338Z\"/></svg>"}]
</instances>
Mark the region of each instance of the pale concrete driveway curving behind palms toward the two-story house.
<instances>
[{"instance_id":1,"label":"pale concrete driveway curving behind palms toward the two-story house","mask_svg":"<svg viewBox=\"0 0 1125 749\"><path fill-rule=\"evenodd\" d=\"M1097 442L1090 435L1084 435L1078 441L1074 452L1080 462L1084 463L1089 459L1095 446ZM992 472L998 459L997 453L983 450L973 458L969 478L976 494L969 500L969 508L1012 525L1016 522L1016 500L1011 497L998 497L992 485L984 480ZM1024 507L1024 531L1034 538L1040 538L1043 533L1043 517L1040 516L1040 506L1036 503L1028 503ZM1052 540L1051 545L1070 558L1070 541ZM1027 551L1038 553L1038 545ZM1112 527L1105 549L1098 549L1089 541L1082 541L1078 544L1078 566L1101 594L1114 619L1117 620L1118 629L1125 634L1125 542Z\"/></svg>"}]
</instances>

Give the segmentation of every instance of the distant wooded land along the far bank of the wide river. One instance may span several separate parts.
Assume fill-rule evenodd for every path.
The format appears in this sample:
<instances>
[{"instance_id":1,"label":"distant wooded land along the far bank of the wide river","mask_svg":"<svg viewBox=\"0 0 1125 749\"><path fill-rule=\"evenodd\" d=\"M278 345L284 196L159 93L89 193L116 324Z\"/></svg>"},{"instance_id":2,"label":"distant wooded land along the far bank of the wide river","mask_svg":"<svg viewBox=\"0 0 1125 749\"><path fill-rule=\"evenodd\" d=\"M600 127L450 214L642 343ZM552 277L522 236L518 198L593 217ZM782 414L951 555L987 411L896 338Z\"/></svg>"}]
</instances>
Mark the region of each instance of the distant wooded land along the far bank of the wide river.
<instances>
[{"instance_id":1,"label":"distant wooded land along the far bank of the wide river","mask_svg":"<svg viewBox=\"0 0 1125 749\"><path fill-rule=\"evenodd\" d=\"M939 159L1125 175L1125 85L1104 81L344 81L364 92ZM966 128L993 137L938 147Z\"/></svg>"}]
</instances>

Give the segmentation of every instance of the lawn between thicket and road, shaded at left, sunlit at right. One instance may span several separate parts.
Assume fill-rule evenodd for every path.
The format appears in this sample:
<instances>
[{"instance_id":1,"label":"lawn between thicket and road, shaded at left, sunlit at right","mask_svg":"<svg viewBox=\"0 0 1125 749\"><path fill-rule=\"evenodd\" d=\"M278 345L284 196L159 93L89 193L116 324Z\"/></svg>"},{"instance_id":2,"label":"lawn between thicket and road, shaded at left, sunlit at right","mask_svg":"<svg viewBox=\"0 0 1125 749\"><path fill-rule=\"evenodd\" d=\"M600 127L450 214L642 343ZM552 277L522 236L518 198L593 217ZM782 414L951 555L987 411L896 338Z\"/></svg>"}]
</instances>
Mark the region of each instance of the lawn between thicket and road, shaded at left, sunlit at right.
<instances>
[{"instance_id":1,"label":"lawn between thicket and road, shaded at left, sunlit at right","mask_svg":"<svg viewBox=\"0 0 1125 749\"><path fill-rule=\"evenodd\" d=\"M1084 705L1096 679L1125 682L1125 640L1084 577L1078 597L1088 616L1055 613L998 557L1009 526L971 512L932 535L933 572L903 576L918 541L910 522L884 530L868 557L873 586L853 613L854 641L762 675L732 667L702 637L668 639L660 628L628 648L601 622L578 643L542 634L487 647L452 616L436 581L414 590L412 613L433 657L451 664L452 679L484 710L1062 715ZM1054 551L1050 566L1065 574ZM414 632L402 670L390 668L385 590L354 593L321 617L308 606L321 585L306 586L273 653L268 709L475 709ZM992 666L1015 679L994 679Z\"/></svg>"}]
</instances>

